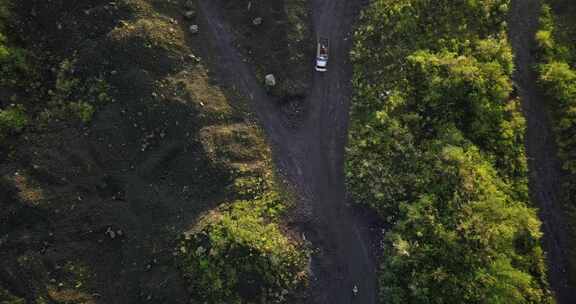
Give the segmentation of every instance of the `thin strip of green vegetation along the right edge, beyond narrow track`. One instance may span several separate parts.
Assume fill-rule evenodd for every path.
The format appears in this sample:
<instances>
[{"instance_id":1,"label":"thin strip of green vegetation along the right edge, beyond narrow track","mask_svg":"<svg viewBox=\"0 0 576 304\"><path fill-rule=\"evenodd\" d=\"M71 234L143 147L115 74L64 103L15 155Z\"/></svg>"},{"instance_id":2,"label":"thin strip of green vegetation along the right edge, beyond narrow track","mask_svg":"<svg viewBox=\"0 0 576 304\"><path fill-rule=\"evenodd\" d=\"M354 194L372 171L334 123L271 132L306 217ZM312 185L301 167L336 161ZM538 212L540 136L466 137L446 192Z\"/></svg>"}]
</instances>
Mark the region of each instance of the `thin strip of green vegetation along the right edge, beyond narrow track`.
<instances>
[{"instance_id":1,"label":"thin strip of green vegetation along the right edge, beyond narrow track","mask_svg":"<svg viewBox=\"0 0 576 304\"><path fill-rule=\"evenodd\" d=\"M541 88L553 116L558 154L567 173L562 199L576 240L576 7L570 1L545 1L536 33ZM574 241L572 242L574 243ZM576 282L576 249L571 250L570 276Z\"/></svg>"}]
</instances>

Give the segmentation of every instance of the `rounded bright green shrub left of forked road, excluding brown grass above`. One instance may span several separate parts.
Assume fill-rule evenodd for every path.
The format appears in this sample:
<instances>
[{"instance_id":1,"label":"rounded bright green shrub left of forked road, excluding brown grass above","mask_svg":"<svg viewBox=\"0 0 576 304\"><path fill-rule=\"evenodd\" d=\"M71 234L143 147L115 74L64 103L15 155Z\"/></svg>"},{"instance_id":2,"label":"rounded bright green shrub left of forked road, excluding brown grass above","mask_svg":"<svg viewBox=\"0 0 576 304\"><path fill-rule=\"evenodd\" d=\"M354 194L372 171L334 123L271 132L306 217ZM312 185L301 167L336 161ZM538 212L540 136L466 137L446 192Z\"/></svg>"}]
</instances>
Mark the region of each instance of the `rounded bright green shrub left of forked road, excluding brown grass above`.
<instances>
[{"instance_id":1,"label":"rounded bright green shrub left of forked road, excluding brown grass above","mask_svg":"<svg viewBox=\"0 0 576 304\"><path fill-rule=\"evenodd\" d=\"M204 217L181 243L193 297L207 303L283 303L304 283L306 254L271 221L283 210L267 193Z\"/></svg>"}]
</instances>

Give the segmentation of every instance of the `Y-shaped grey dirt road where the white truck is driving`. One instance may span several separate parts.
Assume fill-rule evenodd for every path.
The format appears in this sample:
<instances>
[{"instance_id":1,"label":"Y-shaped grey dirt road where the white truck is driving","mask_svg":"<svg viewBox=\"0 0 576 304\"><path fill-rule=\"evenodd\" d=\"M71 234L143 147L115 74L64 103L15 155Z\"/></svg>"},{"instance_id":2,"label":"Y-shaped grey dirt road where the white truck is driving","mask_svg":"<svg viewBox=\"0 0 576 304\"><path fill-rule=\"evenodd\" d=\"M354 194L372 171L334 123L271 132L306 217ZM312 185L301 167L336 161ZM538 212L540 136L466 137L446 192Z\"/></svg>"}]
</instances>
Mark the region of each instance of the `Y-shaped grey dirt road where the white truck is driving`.
<instances>
[{"instance_id":1,"label":"Y-shaped grey dirt road where the white truck is driving","mask_svg":"<svg viewBox=\"0 0 576 304\"><path fill-rule=\"evenodd\" d=\"M344 147L347 140L352 70L350 32L362 1L312 0L317 36L331 41L328 72L314 76L299 128L266 95L220 16L218 1L199 1L203 26L217 50L219 74L249 97L270 144L278 170L300 195L299 226L313 246L312 303L376 303L376 258L368 225L347 207ZM310 58L310 69L313 68ZM352 295L357 285L359 293Z\"/></svg>"}]
</instances>

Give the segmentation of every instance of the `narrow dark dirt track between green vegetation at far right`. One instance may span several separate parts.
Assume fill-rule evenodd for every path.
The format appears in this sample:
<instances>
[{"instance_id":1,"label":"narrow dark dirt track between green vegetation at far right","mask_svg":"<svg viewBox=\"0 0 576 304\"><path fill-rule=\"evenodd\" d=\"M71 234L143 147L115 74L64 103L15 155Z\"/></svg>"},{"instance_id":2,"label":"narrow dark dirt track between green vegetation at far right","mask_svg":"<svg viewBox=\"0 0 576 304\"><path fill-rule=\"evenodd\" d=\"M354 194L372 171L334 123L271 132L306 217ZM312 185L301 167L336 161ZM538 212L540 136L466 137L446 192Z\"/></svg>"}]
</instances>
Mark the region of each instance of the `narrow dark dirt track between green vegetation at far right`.
<instances>
[{"instance_id":1,"label":"narrow dark dirt track between green vegetation at far right","mask_svg":"<svg viewBox=\"0 0 576 304\"><path fill-rule=\"evenodd\" d=\"M516 54L514 80L522 98L527 119L526 152L529 159L530 189L532 199L540 209L544 248L548 260L549 280L559 304L576 303L576 289L568 286L567 252L568 238L562 216L561 192L562 171L557 158L556 144L545 99L538 90L536 64L532 51L535 48L535 33L538 28L540 1L512 1L510 16L510 40Z\"/></svg>"}]
</instances>

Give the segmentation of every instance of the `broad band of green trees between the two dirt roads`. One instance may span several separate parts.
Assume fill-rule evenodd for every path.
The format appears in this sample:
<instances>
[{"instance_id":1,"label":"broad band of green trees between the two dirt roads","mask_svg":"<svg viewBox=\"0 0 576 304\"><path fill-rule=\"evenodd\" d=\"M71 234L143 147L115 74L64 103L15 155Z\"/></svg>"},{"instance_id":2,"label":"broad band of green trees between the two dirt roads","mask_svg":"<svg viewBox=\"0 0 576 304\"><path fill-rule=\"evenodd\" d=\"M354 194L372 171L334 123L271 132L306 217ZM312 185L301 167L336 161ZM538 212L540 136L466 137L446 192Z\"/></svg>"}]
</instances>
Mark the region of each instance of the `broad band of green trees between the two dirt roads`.
<instances>
[{"instance_id":1,"label":"broad band of green trees between the two dirt roads","mask_svg":"<svg viewBox=\"0 0 576 304\"><path fill-rule=\"evenodd\" d=\"M509 1L379 0L352 50L347 181L390 225L383 303L549 303Z\"/></svg>"}]
</instances>

